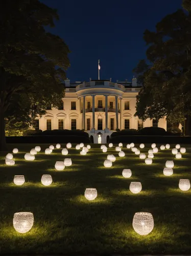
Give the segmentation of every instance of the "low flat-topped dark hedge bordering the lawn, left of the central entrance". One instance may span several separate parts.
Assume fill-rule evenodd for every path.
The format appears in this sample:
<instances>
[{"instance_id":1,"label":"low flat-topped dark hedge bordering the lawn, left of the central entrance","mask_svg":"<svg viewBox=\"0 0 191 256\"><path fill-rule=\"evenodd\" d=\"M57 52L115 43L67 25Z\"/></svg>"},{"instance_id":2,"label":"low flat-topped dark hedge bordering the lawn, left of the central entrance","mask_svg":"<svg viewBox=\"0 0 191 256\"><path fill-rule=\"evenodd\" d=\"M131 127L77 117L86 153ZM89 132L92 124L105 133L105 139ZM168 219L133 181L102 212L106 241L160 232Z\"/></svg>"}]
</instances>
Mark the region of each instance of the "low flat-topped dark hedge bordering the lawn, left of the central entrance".
<instances>
[{"instance_id":1,"label":"low flat-topped dark hedge bordering the lawn, left of the central entrance","mask_svg":"<svg viewBox=\"0 0 191 256\"><path fill-rule=\"evenodd\" d=\"M87 136L15 136L6 137L7 143L91 143Z\"/></svg>"}]
</instances>

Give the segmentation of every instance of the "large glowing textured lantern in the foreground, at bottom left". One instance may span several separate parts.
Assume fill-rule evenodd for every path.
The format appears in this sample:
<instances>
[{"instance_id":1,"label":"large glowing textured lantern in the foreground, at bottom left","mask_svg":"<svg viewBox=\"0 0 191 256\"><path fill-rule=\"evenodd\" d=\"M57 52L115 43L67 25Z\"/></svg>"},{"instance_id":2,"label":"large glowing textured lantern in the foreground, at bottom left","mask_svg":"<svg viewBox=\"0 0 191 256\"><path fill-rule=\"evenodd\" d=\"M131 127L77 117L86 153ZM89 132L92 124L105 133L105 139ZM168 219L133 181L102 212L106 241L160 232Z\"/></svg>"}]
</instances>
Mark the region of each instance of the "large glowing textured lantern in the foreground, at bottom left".
<instances>
[{"instance_id":1,"label":"large glowing textured lantern in the foreground, at bottom left","mask_svg":"<svg viewBox=\"0 0 191 256\"><path fill-rule=\"evenodd\" d=\"M13 227L19 233L27 233L33 226L32 212L16 212L13 217Z\"/></svg>"}]
</instances>

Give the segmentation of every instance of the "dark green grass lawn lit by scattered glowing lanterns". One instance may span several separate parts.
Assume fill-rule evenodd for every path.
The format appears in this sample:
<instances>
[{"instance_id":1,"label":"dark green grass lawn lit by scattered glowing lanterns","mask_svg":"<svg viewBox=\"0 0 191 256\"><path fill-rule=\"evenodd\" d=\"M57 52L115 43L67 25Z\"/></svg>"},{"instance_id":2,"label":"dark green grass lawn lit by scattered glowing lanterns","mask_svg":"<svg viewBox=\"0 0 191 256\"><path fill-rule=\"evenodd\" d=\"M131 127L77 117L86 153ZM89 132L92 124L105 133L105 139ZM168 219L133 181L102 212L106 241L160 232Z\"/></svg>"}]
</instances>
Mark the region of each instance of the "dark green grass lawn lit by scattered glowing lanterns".
<instances>
[{"instance_id":1,"label":"dark green grass lawn lit by scattered glowing lanterns","mask_svg":"<svg viewBox=\"0 0 191 256\"><path fill-rule=\"evenodd\" d=\"M126 156L120 158L114 147L102 153L96 144L86 156L81 156L74 144L68 156L61 155L62 148L45 155L49 145L41 144L36 159L26 161L25 153L34 146L9 144L10 152L14 147L19 150L14 166L5 165L7 153L0 154L0 253L190 253L191 189L183 192L178 187L179 179L191 181L189 145L185 145L182 159L176 159L171 149L159 150L152 165L146 165L126 145ZM150 146L140 152L147 153ZM111 168L103 165L108 154L116 156ZM73 165L55 170L55 162L64 157L71 158ZM166 160L175 163L171 177L163 176ZM123 178L124 168L132 170L131 178ZM40 182L43 174L53 177L49 187ZM25 175L26 183L14 185L14 175ZM141 182L139 194L130 192L131 181ZM85 199L86 187L97 188L96 200ZM18 211L34 214L34 225L26 234L13 228L13 215ZM148 236L140 236L132 227L137 211L153 215L155 226Z\"/></svg>"}]
</instances>

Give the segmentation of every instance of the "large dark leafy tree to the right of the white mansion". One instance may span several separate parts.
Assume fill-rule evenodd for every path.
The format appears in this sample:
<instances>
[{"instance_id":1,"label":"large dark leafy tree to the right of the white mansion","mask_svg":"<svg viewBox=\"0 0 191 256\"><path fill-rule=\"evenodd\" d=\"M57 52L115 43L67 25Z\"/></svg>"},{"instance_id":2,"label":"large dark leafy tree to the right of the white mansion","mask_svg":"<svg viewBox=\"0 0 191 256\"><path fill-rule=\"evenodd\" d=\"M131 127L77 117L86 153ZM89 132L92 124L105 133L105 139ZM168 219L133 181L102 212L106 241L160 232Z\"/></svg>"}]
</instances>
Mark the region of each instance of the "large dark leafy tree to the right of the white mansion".
<instances>
[{"instance_id":1,"label":"large dark leafy tree to the right of the white mansion","mask_svg":"<svg viewBox=\"0 0 191 256\"><path fill-rule=\"evenodd\" d=\"M182 122L191 113L191 16L183 10L167 15L156 25L156 32L146 30L144 39L148 69L134 69L142 76L143 87L137 95L139 118L166 116L172 124Z\"/></svg>"}]
</instances>

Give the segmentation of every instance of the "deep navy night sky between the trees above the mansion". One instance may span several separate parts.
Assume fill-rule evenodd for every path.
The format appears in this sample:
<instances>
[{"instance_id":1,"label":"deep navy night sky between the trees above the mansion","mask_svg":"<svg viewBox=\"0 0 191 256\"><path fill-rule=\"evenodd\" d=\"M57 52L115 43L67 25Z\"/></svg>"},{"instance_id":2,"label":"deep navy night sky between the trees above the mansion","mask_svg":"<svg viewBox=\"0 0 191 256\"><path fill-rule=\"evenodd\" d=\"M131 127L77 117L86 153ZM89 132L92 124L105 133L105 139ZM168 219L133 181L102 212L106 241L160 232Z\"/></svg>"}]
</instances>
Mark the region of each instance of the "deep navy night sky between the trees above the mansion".
<instances>
[{"instance_id":1,"label":"deep navy night sky between the trees above the mansion","mask_svg":"<svg viewBox=\"0 0 191 256\"><path fill-rule=\"evenodd\" d=\"M145 29L154 30L182 0L41 0L56 8L60 20L48 29L64 39L71 53L66 75L71 81L132 79L132 69L145 58Z\"/></svg>"}]
</instances>

